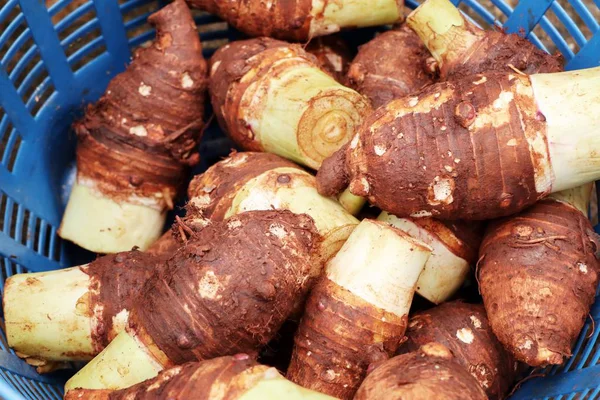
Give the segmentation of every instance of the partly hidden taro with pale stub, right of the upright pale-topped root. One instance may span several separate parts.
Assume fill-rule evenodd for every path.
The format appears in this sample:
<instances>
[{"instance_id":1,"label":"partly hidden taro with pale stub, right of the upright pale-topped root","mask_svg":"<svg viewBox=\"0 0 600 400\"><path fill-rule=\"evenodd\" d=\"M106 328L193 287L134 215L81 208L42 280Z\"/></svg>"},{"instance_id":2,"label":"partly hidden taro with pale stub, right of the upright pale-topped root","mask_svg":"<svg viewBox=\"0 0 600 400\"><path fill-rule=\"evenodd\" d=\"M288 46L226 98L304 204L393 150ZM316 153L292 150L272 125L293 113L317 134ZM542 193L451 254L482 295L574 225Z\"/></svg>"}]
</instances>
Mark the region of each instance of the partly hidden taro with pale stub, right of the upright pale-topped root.
<instances>
[{"instance_id":1,"label":"partly hidden taro with pale stub, right of the upright pale-topped root","mask_svg":"<svg viewBox=\"0 0 600 400\"><path fill-rule=\"evenodd\" d=\"M381 213L380 221L403 230L433 249L417 282L417 293L439 304L452 297L477 261L483 232L476 222L438 221L433 218L398 218Z\"/></svg>"}]
</instances>

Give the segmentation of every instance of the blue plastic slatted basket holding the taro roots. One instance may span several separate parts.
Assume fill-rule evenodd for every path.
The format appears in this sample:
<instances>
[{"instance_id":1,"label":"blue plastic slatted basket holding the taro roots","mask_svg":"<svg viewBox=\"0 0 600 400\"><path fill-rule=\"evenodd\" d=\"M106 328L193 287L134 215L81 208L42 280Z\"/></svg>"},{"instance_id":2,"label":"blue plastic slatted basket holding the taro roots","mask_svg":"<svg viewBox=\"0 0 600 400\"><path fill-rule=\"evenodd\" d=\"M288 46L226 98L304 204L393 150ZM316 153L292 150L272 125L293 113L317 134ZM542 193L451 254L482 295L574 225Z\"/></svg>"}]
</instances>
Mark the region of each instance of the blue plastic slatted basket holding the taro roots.
<instances>
[{"instance_id":1,"label":"blue plastic slatted basket holding the taro roots","mask_svg":"<svg viewBox=\"0 0 600 400\"><path fill-rule=\"evenodd\" d=\"M567 59L568 69L600 65L600 0L588 6L581 0L521 0L514 9L491 0L494 10L477 0L453 1L481 25L527 34L544 49L544 43L552 44L551 50ZM153 37L146 18L163 5L157 0L94 0L73 7L72 0L58 0L48 2L53 3L48 8L45 3L0 0L0 294L13 274L89 258L56 234L74 179L70 124L124 69L130 50ZM407 3L411 8L418 4ZM235 34L213 16L197 13L196 22L207 57ZM230 145L213 124L198 169L227 154ZM600 326L600 301L591 317ZM598 398L600 329L593 326L591 320L586 323L570 360L524 383L514 398ZM0 332L0 398L60 399L67 377L67 372L38 375L8 348Z\"/></svg>"}]
</instances>

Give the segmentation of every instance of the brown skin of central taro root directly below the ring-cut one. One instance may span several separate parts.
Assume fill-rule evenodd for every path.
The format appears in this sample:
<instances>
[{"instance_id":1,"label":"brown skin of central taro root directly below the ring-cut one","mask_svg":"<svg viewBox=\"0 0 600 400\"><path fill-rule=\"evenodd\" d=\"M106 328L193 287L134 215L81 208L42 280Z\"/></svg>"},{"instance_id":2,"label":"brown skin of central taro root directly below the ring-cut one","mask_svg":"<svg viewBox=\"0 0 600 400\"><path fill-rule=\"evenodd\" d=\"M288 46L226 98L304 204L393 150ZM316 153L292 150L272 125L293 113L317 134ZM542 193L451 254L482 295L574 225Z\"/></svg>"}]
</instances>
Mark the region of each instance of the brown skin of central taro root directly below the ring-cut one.
<instances>
[{"instance_id":1,"label":"brown skin of central taro root directly below the ring-cut one","mask_svg":"<svg viewBox=\"0 0 600 400\"><path fill-rule=\"evenodd\" d=\"M195 209L208 219L223 220L239 189L249 180L275 168L297 168L296 164L269 153L231 153L203 174L196 175L188 187Z\"/></svg>"}]
</instances>

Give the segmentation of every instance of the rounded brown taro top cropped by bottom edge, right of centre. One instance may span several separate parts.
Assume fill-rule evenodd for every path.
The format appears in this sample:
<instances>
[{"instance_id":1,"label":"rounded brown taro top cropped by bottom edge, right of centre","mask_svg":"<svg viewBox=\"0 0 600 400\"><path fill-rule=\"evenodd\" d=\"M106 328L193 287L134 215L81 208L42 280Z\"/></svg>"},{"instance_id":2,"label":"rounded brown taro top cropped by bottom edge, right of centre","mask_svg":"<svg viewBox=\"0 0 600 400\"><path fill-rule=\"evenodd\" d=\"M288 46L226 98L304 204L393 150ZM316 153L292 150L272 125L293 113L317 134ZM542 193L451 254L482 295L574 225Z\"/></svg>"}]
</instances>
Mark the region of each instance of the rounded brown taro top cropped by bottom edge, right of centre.
<instances>
[{"instance_id":1,"label":"rounded brown taro top cropped by bottom edge, right of centre","mask_svg":"<svg viewBox=\"0 0 600 400\"><path fill-rule=\"evenodd\" d=\"M475 378L439 343L428 343L373 367L354 400L487 399Z\"/></svg>"}]
</instances>

